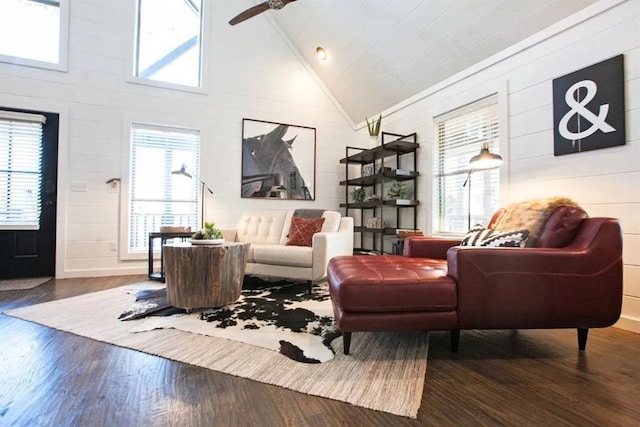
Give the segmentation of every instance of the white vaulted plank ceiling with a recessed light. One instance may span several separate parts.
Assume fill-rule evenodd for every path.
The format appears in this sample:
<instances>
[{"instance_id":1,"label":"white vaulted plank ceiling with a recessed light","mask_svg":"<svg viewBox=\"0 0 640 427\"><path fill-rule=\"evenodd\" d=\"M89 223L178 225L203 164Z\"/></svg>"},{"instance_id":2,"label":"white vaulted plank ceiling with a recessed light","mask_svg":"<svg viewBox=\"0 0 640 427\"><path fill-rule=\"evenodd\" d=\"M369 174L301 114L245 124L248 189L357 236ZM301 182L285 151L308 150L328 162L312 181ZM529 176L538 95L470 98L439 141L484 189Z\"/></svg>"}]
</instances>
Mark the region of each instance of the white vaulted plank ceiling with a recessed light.
<instances>
[{"instance_id":1,"label":"white vaulted plank ceiling with a recessed light","mask_svg":"<svg viewBox=\"0 0 640 427\"><path fill-rule=\"evenodd\" d=\"M298 0L252 19L272 18L357 124L596 1Z\"/></svg>"}]
</instances>

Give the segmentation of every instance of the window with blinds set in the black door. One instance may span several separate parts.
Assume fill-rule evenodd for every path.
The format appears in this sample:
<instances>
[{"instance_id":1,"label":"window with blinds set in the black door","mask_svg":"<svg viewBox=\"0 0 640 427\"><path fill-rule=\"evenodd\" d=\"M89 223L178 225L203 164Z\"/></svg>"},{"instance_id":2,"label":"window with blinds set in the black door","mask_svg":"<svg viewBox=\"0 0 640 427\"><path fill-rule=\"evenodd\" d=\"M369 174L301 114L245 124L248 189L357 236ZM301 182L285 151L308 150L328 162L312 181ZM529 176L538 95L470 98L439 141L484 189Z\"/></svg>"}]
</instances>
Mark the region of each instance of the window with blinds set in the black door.
<instances>
[{"instance_id":1,"label":"window with blinds set in the black door","mask_svg":"<svg viewBox=\"0 0 640 427\"><path fill-rule=\"evenodd\" d=\"M42 125L39 114L0 111L0 228L40 228Z\"/></svg>"}]
</instances>

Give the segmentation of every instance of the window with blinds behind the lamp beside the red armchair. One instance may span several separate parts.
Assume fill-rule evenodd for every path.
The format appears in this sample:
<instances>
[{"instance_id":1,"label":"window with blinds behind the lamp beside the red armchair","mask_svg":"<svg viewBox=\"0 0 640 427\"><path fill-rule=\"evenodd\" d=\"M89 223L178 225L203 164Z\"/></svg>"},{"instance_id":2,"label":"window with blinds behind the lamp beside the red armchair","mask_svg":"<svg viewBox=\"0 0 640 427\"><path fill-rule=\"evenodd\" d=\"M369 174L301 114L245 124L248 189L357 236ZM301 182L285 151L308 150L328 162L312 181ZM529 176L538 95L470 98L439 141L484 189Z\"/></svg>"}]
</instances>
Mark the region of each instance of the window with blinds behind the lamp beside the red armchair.
<instances>
[{"instance_id":1,"label":"window with blinds behind the lamp beside the red armchair","mask_svg":"<svg viewBox=\"0 0 640 427\"><path fill-rule=\"evenodd\" d=\"M483 143L499 154L497 96L481 99L435 118L434 231L464 233L486 225L500 204L500 171L469 171Z\"/></svg>"}]
</instances>

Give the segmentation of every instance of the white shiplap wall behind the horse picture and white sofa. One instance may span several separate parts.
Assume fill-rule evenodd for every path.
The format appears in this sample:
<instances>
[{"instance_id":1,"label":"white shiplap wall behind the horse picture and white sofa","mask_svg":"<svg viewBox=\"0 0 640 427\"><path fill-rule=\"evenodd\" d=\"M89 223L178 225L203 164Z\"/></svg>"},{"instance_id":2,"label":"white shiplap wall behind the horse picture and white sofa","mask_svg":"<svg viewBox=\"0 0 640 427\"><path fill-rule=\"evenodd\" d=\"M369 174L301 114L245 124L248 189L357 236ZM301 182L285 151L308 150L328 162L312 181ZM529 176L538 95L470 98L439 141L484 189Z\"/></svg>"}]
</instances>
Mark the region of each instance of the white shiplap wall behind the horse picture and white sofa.
<instances>
[{"instance_id":1,"label":"white shiplap wall behind the horse picture and white sofa","mask_svg":"<svg viewBox=\"0 0 640 427\"><path fill-rule=\"evenodd\" d=\"M120 195L106 181L122 178L131 121L200 129L201 178L213 189L207 219L231 228L246 209L338 209L344 145L353 129L287 42L266 20L231 27L240 2L209 1L206 94L128 82L133 0L73 0L68 72L0 63L0 105L61 114L56 276L146 272L118 252ZM241 7L240 7L241 8ZM240 198L242 118L315 127L316 200ZM86 192L71 191L86 182Z\"/></svg>"}]
</instances>

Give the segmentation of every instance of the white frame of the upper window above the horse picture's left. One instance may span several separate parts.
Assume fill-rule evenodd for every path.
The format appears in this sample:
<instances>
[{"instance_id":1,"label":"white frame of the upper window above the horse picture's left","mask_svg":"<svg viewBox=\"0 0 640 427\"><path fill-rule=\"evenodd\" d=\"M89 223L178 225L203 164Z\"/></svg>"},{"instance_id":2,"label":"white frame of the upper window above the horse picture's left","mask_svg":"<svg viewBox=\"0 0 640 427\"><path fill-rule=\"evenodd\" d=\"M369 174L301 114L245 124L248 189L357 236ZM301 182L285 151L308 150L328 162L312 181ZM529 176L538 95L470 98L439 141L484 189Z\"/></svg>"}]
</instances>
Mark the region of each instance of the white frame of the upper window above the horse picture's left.
<instances>
[{"instance_id":1,"label":"white frame of the upper window above the horse picture's left","mask_svg":"<svg viewBox=\"0 0 640 427\"><path fill-rule=\"evenodd\" d=\"M176 83L163 82L159 80L153 80L145 77L136 76L136 62L138 55L138 22L139 22L139 0L133 1L133 19L131 22L131 52L128 59L128 71L126 76L126 81L128 83L140 84L145 86L153 86L164 89L172 89L179 90L182 92L191 92L197 94L208 93L207 90L207 70L209 69L209 56L207 54L207 40L210 37L210 17L209 17L209 7L208 0L202 0L202 8L200 11L200 82L199 86L187 86Z\"/></svg>"}]
</instances>

